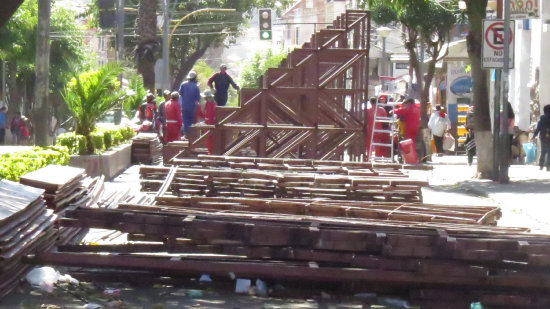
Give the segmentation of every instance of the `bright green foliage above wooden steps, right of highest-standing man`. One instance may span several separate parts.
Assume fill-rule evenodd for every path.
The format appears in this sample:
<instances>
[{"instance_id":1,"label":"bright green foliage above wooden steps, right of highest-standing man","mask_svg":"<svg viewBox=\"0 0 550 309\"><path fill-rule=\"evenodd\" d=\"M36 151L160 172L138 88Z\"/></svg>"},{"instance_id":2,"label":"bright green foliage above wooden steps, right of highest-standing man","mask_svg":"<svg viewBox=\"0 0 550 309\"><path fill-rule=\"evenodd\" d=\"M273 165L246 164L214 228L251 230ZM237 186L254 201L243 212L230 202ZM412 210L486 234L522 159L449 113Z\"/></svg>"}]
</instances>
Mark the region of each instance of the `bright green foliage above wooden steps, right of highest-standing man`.
<instances>
[{"instance_id":1,"label":"bright green foliage above wooden steps, right of highest-standing man","mask_svg":"<svg viewBox=\"0 0 550 309\"><path fill-rule=\"evenodd\" d=\"M271 49L254 54L252 59L244 65L239 76L241 88L258 88L260 76L269 68L277 68L287 54L288 52L285 51L273 52Z\"/></svg>"}]
</instances>

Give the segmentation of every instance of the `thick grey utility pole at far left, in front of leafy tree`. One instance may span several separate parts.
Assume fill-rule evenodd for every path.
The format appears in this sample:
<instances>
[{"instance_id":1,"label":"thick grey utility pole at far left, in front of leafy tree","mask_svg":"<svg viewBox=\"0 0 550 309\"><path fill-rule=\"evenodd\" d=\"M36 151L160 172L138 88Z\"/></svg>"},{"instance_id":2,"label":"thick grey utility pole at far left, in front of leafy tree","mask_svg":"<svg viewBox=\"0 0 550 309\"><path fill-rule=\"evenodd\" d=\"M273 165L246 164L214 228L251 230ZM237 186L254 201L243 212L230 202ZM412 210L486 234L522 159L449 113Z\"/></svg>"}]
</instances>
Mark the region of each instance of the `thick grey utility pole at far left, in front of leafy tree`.
<instances>
[{"instance_id":1,"label":"thick grey utility pole at far left, in front of leafy tree","mask_svg":"<svg viewBox=\"0 0 550 309\"><path fill-rule=\"evenodd\" d=\"M38 0L36 36L36 79L33 108L34 137L37 146L48 146L50 112L48 104L50 70L50 0Z\"/></svg>"}]
</instances>

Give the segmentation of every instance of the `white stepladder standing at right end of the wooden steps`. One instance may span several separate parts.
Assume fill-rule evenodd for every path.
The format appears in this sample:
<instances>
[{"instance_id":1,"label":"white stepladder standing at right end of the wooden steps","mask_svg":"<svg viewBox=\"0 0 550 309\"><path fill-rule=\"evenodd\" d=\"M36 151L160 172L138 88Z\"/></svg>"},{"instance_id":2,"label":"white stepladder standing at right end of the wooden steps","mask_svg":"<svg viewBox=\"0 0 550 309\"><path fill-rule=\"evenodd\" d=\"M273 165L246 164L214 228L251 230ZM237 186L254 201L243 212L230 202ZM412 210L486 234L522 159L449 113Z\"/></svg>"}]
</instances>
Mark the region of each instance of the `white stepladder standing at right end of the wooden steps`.
<instances>
[{"instance_id":1,"label":"white stepladder standing at right end of the wooden steps","mask_svg":"<svg viewBox=\"0 0 550 309\"><path fill-rule=\"evenodd\" d=\"M383 116L378 116L378 108L379 107L391 107L393 109L394 105L393 104L388 104L388 103L380 103L376 102L376 105L374 106L374 116L372 117L373 118L373 121L372 121L372 130L371 130L371 134L370 134L370 146L369 146L369 161L370 162L395 162L395 159L394 159L394 153L393 153L393 150L394 150L394 137L396 135L396 129L397 129L397 120L394 116L391 116L391 117L383 117ZM389 128L382 128L382 129L377 129L376 128L376 125L379 124L379 123L386 123L386 124L389 124ZM375 143L374 142L374 134L376 133L384 133L384 134L388 134L389 135L389 143ZM390 157L387 158L387 157L377 157L373 154L373 151L374 151L374 147L389 147L390 148Z\"/></svg>"}]
</instances>

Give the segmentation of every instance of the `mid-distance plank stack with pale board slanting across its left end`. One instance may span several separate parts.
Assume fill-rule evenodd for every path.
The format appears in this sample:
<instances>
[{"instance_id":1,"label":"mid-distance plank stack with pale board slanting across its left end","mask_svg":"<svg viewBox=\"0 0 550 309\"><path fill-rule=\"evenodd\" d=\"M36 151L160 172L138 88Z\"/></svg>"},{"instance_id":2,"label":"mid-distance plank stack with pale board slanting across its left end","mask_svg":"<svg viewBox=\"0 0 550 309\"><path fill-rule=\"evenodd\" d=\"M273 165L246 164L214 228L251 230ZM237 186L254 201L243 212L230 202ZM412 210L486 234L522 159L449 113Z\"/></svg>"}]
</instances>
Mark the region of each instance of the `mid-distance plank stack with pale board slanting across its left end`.
<instances>
[{"instance_id":1,"label":"mid-distance plank stack with pale board slanting across its left end","mask_svg":"<svg viewBox=\"0 0 550 309\"><path fill-rule=\"evenodd\" d=\"M426 181L232 168L142 166L142 190L158 195L329 198L417 202Z\"/></svg>"}]
</instances>

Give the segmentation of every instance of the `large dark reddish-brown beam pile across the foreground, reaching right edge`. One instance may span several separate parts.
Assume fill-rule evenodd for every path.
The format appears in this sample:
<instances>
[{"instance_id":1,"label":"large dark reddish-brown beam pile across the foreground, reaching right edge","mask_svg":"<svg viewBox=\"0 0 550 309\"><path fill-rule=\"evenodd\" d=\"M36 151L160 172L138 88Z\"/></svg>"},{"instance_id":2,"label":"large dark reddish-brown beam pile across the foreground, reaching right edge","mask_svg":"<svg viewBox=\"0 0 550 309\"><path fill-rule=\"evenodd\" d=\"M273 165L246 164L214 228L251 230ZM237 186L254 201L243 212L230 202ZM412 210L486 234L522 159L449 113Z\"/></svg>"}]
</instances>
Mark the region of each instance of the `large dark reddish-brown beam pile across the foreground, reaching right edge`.
<instances>
[{"instance_id":1,"label":"large dark reddish-brown beam pile across the foreground, reaching right edge","mask_svg":"<svg viewBox=\"0 0 550 309\"><path fill-rule=\"evenodd\" d=\"M148 242L66 246L67 252L37 261L374 286L406 294L422 308L550 306L550 237L526 229L181 205L82 208L66 215L62 225L111 228Z\"/></svg>"}]
</instances>

